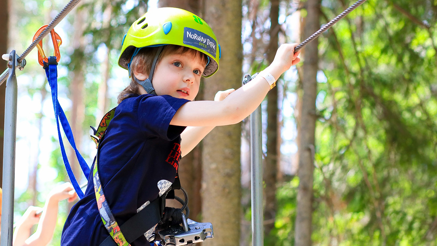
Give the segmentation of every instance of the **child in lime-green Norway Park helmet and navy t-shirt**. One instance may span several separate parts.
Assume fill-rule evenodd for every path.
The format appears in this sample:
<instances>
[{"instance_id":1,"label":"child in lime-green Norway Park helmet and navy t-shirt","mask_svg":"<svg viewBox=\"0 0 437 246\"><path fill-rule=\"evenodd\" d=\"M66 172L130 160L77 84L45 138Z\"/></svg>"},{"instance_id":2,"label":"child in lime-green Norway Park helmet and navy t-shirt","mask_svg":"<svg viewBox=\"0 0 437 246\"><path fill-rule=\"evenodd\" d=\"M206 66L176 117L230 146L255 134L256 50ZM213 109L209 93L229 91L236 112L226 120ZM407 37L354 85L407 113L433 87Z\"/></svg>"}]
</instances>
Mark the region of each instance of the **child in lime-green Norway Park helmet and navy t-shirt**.
<instances>
[{"instance_id":1,"label":"child in lime-green Norway Park helmet and navy t-shirt","mask_svg":"<svg viewBox=\"0 0 437 246\"><path fill-rule=\"evenodd\" d=\"M98 246L110 233L118 245L128 245L119 237L119 226L167 191L180 157L215 126L238 123L260 105L276 79L299 62L295 46L282 45L274 62L238 90L219 91L215 101L194 101L201 76L218 69L220 46L211 28L177 8L149 11L135 21L118 61L132 81L118 96L119 105L98 145L96 191L90 175L85 197L67 218L61 245ZM102 220L111 226L105 228ZM148 245L154 230L130 245Z\"/></svg>"}]
</instances>

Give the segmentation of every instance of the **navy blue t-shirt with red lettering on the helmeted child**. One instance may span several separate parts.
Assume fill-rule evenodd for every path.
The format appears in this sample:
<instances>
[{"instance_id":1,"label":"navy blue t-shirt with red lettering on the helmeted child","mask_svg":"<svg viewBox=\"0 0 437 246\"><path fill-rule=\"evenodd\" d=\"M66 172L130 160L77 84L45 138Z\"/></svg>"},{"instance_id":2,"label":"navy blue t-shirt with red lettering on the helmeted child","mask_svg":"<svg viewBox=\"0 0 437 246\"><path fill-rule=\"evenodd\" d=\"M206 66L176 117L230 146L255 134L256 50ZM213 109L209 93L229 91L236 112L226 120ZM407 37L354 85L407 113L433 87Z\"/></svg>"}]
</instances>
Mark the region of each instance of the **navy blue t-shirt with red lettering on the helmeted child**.
<instances>
[{"instance_id":1,"label":"navy blue t-shirt with red lettering on the helmeted child","mask_svg":"<svg viewBox=\"0 0 437 246\"><path fill-rule=\"evenodd\" d=\"M180 159L180 134L185 127L170 125L170 121L186 102L189 101L169 95L135 95L123 100L115 110L100 143L98 170L118 225L161 196L174 182ZM108 235L97 209L91 172L85 196L68 215L61 245L98 246ZM141 236L131 245L149 243Z\"/></svg>"}]
</instances>

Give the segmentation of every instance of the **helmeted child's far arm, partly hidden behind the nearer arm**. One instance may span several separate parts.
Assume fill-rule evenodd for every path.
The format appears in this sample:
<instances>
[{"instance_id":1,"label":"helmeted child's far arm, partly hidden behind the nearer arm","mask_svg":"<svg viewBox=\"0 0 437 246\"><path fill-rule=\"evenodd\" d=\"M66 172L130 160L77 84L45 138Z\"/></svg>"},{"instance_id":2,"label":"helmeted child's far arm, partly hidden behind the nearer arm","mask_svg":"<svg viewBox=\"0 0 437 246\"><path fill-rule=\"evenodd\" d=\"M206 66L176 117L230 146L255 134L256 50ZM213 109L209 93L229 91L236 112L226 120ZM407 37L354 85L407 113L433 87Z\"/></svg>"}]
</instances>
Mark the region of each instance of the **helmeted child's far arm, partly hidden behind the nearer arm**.
<instances>
[{"instance_id":1,"label":"helmeted child's far arm, partly hidden behind the nearer arm","mask_svg":"<svg viewBox=\"0 0 437 246\"><path fill-rule=\"evenodd\" d=\"M226 91L218 91L215 94L214 101L219 102L225 99L235 89L228 89ZM207 127L187 127L182 134L180 134L180 153L182 156L187 155L196 147L200 141L212 130L215 126Z\"/></svg>"}]
</instances>

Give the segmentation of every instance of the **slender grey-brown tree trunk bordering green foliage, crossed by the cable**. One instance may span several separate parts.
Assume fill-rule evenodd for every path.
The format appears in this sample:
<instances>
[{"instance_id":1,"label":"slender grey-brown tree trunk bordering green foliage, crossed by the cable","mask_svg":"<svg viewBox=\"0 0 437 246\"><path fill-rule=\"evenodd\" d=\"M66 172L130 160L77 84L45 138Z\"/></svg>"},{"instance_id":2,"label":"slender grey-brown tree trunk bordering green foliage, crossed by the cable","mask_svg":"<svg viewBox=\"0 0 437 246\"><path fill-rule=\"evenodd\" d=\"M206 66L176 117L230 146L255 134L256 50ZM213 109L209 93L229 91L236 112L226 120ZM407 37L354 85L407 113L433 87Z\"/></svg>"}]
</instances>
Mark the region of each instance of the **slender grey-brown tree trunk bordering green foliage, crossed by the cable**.
<instances>
[{"instance_id":1,"label":"slender grey-brown tree trunk bordering green foliage, crossed by the cable","mask_svg":"<svg viewBox=\"0 0 437 246\"><path fill-rule=\"evenodd\" d=\"M308 12L305 18L303 35L309 37L319 27L321 0L308 0L305 4ZM314 141L316 130L316 95L318 70L318 39L305 47L303 56L302 109L299 144L299 187L297 197L297 215L295 221L295 246L311 246L312 240L312 200L314 173Z\"/></svg>"}]
</instances>

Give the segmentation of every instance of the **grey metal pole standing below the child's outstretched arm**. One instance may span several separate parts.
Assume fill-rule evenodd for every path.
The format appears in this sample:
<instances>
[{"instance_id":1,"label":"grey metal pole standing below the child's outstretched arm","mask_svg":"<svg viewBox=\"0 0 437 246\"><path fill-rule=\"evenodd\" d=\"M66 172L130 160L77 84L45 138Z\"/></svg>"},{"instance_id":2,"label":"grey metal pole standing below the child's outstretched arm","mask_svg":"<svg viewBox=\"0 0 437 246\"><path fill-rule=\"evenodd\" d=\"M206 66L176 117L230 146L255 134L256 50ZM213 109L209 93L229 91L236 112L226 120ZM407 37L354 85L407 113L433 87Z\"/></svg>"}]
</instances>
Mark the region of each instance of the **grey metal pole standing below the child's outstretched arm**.
<instances>
[{"instance_id":1,"label":"grey metal pole standing below the child's outstretched arm","mask_svg":"<svg viewBox=\"0 0 437 246\"><path fill-rule=\"evenodd\" d=\"M264 245L261 106L250 114L252 246Z\"/></svg>"}]
</instances>

